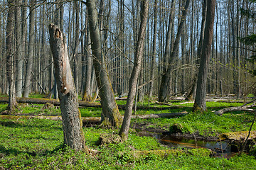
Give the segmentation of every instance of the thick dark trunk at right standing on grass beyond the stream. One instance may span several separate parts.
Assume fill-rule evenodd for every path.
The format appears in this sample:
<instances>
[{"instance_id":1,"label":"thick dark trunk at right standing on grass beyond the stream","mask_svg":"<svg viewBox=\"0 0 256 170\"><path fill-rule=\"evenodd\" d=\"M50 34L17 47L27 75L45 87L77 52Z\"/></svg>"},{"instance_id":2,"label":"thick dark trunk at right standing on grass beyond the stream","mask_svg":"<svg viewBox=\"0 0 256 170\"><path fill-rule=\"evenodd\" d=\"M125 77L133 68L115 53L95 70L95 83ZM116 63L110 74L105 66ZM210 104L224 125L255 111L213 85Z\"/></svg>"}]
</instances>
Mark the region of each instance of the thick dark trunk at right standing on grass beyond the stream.
<instances>
[{"instance_id":1,"label":"thick dark trunk at right standing on grass beyond the stream","mask_svg":"<svg viewBox=\"0 0 256 170\"><path fill-rule=\"evenodd\" d=\"M206 28L203 38L203 46L201 52L201 62L198 73L198 81L196 86L196 98L193 105L193 111L206 111L206 81L208 64L210 61L211 45L213 41L213 25L215 13L215 0L207 1L206 12Z\"/></svg>"}]
</instances>

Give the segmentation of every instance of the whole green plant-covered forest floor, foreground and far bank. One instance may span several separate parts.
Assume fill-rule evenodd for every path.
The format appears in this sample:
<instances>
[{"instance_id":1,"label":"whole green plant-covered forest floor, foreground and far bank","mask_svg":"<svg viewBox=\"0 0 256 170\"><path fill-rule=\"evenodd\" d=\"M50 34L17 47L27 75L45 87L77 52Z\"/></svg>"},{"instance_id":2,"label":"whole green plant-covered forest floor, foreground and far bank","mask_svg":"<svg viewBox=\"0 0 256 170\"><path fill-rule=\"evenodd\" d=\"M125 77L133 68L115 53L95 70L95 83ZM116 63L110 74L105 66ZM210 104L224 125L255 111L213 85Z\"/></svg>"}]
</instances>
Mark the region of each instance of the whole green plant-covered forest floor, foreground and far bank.
<instances>
[{"instance_id":1,"label":"whole green plant-covered forest floor, foreground and far bank","mask_svg":"<svg viewBox=\"0 0 256 170\"><path fill-rule=\"evenodd\" d=\"M31 96L35 97L35 96ZM125 101L117 101L124 105ZM90 154L63 147L61 120L38 119L35 115L60 115L58 106L19 104L14 115L0 117L0 169L255 169L256 147L246 154L230 158L215 157L207 148L170 147L155 137L139 136L139 131L180 135L197 140L215 140L225 132L247 131L254 113L236 111L215 115L214 112L243 103L207 102L206 113L192 113L193 103L170 101L138 103L150 109L138 109L137 115L158 113L187 113L175 118L132 119L126 142L98 145L100 135L114 137L119 129L100 128L98 124L84 125L85 140ZM171 106L181 106L171 109ZM0 113L7 103L0 103ZM157 107L161 109L153 109ZM100 117L101 108L80 108L82 117ZM124 111L120 110L122 114ZM26 115L26 118L25 118ZM0 115L4 116L4 115ZM256 130L256 125L252 126Z\"/></svg>"}]
</instances>

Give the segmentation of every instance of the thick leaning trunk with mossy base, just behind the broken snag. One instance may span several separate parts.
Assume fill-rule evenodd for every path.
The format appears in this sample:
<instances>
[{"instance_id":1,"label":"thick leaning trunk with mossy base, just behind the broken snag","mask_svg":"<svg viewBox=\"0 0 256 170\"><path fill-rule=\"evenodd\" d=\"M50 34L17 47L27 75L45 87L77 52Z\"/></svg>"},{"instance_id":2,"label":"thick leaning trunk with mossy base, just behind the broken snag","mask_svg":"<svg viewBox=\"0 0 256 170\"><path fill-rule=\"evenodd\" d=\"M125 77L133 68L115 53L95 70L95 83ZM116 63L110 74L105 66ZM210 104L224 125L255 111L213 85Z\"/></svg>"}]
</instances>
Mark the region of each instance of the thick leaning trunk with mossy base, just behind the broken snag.
<instances>
[{"instance_id":1,"label":"thick leaning trunk with mossy base, just behind the broken snag","mask_svg":"<svg viewBox=\"0 0 256 170\"><path fill-rule=\"evenodd\" d=\"M118 127L122 121L121 115L114 101L114 93L107 72L105 57L102 55L100 30L97 22L97 10L94 0L87 1L90 40L92 44L93 64L97 86L100 90L100 103L102 104L102 124Z\"/></svg>"}]
</instances>

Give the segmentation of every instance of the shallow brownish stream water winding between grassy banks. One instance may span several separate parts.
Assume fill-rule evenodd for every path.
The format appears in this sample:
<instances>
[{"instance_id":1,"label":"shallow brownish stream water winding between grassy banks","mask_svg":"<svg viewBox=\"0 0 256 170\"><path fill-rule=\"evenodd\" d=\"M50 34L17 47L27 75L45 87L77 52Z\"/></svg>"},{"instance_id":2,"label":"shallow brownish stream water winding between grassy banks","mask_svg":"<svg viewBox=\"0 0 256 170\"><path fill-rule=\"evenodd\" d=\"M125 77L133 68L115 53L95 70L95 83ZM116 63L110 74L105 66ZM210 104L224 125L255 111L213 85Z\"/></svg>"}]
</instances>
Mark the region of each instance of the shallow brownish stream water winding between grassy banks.
<instances>
[{"instance_id":1,"label":"shallow brownish stream water winding between grassy banks","mask_svg":"<svg viewBox=\"0 0 256 170\"><path fill-rule=\"evenodd\" d=\"M189 147L189 148L208 148L214 151L214 157L224 157L230 159L237 154L232 151L232 147L227 142L215 142L206 140L191 140L183 137L174 137L171 135L162 135L148 131L138 132L139 136L155 137L162 145L169 147Z\"/></svg>"}]
</instances>

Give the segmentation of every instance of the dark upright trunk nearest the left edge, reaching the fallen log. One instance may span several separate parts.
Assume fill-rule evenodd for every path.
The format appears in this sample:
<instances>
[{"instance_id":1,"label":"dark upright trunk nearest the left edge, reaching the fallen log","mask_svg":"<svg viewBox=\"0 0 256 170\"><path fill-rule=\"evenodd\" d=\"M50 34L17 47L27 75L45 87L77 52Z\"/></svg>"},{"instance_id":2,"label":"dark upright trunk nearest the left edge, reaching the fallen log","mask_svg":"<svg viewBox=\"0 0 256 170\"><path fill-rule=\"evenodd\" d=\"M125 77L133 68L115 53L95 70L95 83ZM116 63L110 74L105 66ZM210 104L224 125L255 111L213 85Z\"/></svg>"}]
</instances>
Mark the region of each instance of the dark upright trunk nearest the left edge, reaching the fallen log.
<instances>
[{"instance_id":1,"label":"dark upright trunk nearest the left edge, reaching the fallen log","mask_svg":"<svg viewBox=\"0 0 256 170\"><path fill-rule=\"evenodd\" d=\"M9 104L8 111L11 114L16 107L16 91L14 83L14 1L8 3L8 16L6 23L6 76L9 83Z\"/></svg>"}]
</instances>

